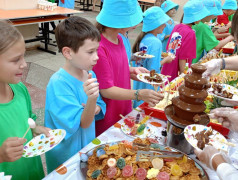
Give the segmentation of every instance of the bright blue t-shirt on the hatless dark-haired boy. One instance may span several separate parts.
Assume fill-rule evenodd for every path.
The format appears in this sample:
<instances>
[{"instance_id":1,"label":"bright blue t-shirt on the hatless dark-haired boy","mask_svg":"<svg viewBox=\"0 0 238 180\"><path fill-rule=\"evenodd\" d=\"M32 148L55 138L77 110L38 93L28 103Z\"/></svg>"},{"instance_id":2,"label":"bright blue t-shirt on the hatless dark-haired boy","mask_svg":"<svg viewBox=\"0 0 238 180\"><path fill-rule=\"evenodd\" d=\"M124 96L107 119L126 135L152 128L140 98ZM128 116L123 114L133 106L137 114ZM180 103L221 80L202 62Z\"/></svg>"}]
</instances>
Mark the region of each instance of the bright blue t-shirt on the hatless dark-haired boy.
<instances>
[{"instance_id":1,"label":"bright blue t-shirt on the hatless dark-haired boy","mask_svg":"<svg viewBox=\"0 0 238 180\"><path fill-rule=\"evenodd\" d=\"M92 78L96 78L93 71ZM97 105L101 112L88 128L81 128L81 115L88 96L84 92L82 81L60 69L50 78L46 89L45 126L51 129L64 129L64 140L52 150L46 152L48 173L75 155L83 147L95 139L95 120L104 118L106 104L101 96Z\"/></svg>"}]
</instances>

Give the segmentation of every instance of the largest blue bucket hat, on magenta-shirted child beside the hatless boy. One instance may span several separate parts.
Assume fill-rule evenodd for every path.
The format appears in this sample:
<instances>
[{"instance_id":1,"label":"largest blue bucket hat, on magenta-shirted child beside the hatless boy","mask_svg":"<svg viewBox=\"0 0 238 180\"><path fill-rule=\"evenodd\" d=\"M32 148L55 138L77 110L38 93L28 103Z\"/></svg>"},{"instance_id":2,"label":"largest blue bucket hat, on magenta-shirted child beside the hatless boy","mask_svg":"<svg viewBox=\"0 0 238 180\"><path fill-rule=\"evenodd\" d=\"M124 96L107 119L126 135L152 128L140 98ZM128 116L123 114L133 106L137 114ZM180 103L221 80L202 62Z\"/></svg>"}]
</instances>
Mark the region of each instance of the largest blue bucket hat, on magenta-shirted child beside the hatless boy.
<instances>
[{"instance_id":1,"label":"largest blue bucket hat, on magenta-shirted child beside the hatless boy","mask_svg":"<svg viewBox=\"0 0 238 180\"><path fill-rule=\"evenodd\" d=\"M106 27L129 28L141 23L143 16L137 0L107 0L96 20Z\"/></svg>"}]
</instances>

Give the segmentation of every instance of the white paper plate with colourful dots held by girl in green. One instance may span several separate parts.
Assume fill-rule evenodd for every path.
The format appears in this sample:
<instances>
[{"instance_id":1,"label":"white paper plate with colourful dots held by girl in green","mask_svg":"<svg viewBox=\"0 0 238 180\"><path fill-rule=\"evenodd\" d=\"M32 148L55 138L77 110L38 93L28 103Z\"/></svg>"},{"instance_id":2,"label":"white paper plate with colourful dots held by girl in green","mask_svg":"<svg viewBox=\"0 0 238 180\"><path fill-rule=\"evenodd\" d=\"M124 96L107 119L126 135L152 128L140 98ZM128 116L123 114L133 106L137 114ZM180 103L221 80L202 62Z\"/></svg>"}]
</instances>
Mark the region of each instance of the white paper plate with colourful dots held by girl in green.
<instances>
[{"instance_id":1,"label":"white paper plate with colourful dots held by girl in green","mask_svg":"<svg viewBox=\"0 0 238 180\"><path fill-rule=\"evenodd\" d=\"M65 137L66 131L63 129L55 129L49 131L50 137L44 134L34 137L29 141L23 149L23 157L30 158L39 156L58 145Z\"/></svg>"}]
</instances>

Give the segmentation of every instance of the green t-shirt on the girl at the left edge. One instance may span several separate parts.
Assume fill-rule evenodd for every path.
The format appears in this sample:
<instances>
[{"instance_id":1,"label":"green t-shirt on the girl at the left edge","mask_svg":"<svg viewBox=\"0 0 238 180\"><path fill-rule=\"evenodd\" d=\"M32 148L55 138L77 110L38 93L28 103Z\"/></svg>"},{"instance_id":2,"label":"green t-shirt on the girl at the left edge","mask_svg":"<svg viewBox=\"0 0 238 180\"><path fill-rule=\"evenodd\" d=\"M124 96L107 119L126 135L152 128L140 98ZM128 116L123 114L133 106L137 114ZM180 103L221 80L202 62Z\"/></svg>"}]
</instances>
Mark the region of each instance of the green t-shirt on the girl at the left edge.
<instances>
[{"instance_id":1,"label":"green t-shirt on the girl at the left edge","mask_svg":"<svg viewBox=\"0 0 238 180\"><path fill-rule=\"evenodd\" d=\"M0 146L9 137L22 137L28 125L28 118L36 119L32 113L31 99L24 84L10 84L14 98L0 104ZM32 139L32 132L28 131L27 141ZM0 172L12 175L12 180L38 180L44 177L40 156L20 158L14 162L0 163Z\"/></svg>"}]
</instances>

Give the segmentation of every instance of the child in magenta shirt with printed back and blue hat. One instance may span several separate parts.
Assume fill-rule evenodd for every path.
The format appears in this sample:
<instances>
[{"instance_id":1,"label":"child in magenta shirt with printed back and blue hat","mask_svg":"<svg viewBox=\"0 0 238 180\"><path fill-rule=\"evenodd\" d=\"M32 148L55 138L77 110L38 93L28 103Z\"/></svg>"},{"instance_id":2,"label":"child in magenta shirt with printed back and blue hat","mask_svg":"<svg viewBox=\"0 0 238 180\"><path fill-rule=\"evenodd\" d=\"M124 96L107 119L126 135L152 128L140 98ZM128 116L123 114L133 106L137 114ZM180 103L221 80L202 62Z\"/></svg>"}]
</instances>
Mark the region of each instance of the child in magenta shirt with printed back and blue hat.
<instances>
[{"instance_id":1,"label":"child in magenta shirt with printed back and blue hat","mask_svg":"<svg viewBox=\"0 0 238 180\"><path fill-rule=\"evenodd\" d=\"M196 58L196 35L192 25L199 23L209 14L201 1L196 0L188 1L183 9L183 23L174 27L167 44L167 51L174 54L175 59L164 64L161 71L162 74L171 76L170 81L184 72L186 62L190 66L192 59Z\"/></svg>"}]
</instances>

